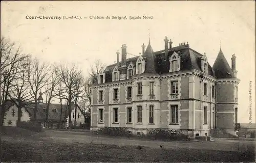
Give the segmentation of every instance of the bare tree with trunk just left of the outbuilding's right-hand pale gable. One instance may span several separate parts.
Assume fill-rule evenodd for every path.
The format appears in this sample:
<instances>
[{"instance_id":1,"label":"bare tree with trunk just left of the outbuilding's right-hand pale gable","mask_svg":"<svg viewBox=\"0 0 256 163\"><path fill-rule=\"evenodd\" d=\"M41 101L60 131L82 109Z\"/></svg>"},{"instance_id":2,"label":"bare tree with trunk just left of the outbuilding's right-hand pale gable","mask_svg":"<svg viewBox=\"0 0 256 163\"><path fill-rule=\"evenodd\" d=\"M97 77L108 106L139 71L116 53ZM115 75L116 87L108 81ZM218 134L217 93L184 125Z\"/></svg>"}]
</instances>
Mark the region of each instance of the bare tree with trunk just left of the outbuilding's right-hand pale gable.
<instances>
[{"instance_id":1,"label":"bare tree with trunk just left of the outbuilding's right-hand pale gable","mask_svg":"<svg viewBox=\"0 0 256 163\"><path fill-rule=\"evenodd\" d=\"M65 93L67 94L69 127L71 127L72 126L72 122L71 122L72 99L75 96L77 78L81 76L81 70L79 70L78 67L76 67L74 64L72 64L70 67L69 65L66 65L66 67L60 66L59 74L60 74L60 80L64 85L63 88L65 90Z\"/></svg>"}]
</instances>

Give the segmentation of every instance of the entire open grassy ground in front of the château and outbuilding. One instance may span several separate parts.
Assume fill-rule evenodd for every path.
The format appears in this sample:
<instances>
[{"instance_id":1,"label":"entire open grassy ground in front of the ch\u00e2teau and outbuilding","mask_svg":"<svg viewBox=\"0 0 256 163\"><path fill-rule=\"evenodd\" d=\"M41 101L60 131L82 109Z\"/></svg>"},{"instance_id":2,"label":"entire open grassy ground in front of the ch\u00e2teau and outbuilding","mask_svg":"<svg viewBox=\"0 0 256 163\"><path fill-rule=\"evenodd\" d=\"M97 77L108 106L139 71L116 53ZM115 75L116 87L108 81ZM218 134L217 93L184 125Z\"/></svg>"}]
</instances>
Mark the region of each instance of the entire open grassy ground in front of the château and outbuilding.
<instances>
[{"instance_id":1,"label":"entire open grassy ground in front of the ch\u00e2teau and outbuilding","mask_svg":"<svg viewBox=\"0 0 256 163\"><path fill-rule=\"evenodd\" d=\"M250 142L161 142L92 137L47 130L31 137L2 137L2 162L254 161ZM160 147L162 146L162 148ZM139 148L140 147L140 148Z\"/></svg>"}]
</instances>

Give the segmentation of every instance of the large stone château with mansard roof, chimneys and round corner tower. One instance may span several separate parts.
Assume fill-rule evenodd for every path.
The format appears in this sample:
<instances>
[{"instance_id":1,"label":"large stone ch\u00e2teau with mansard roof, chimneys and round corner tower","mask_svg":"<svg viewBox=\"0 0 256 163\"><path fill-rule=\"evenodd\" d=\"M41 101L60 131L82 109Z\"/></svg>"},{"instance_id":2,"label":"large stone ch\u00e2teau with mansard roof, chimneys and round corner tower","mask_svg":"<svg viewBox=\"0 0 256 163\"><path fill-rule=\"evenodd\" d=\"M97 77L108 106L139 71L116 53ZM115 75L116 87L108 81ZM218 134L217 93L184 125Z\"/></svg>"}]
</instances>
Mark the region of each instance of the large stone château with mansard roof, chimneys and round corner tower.
<instances>
[{"instance_id":1,"label":"large stone ch\u00e2teau with mansard roof, chimneys and round corner tower","mask_svg":"<svg viewBox=\"0 0 256 163\"><path fill-rule=\"evenodd\" d=\"M117 61L107 66L91 86L91 130L127 127L133 134L150 129L178 129L189 137L222 129L236 135L238 84L236 57L231 68L220 48L211 67L207 56L188 43L153 51L150 41L142 55L126 58L121 47Z\"/></svg>"}]
</instances>

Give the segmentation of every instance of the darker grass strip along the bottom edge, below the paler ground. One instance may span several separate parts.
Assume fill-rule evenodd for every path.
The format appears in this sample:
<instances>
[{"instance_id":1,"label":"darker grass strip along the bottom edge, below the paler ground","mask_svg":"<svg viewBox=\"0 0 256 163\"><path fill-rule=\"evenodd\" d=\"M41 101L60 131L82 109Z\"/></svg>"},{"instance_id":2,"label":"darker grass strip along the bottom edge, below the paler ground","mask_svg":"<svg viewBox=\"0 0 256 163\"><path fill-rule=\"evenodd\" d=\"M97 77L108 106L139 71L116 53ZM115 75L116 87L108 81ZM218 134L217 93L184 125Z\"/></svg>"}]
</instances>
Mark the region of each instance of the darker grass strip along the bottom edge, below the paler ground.
<instances>
[{"instance_id":1,"label":"darker grass strip along the bottom edge, below the paler ground","mask_svg":"<svg viewBox=\"0 0 256 163\"><path fill-rule=\"evenodd\" d=\"M1 142L2 162L254 161L254 152L151 149L83 143Z\"/></svg>"}]
</instances>

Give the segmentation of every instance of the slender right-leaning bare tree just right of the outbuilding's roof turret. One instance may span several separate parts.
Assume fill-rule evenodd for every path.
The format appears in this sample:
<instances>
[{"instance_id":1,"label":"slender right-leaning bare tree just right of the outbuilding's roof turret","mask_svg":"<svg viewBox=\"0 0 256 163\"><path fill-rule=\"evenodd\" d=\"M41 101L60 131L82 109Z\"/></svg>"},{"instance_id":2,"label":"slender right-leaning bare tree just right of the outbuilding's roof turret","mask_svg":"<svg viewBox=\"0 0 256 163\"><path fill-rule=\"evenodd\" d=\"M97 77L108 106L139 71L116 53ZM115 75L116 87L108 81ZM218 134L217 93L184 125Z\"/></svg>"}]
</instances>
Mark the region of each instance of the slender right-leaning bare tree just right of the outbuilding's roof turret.
<instances>
[{"instance_id":1,"label":"slender right-leaning bare tree just right of the outbuilding's roof turret","mask_svg":"<svg viewBox=\"0 0 256 163\"><path fill-rule=\"evenodd\" d=\"M54 67L50 74L50 79L46 84L46 90L45 90L46 124L47 124L46 127L48 127L49 106L53 102L53 98L58 96L58 93L55 91L55 89L57 89L57 86L59 85L59 83L60 83L59 74L57 72L57 68Z\"/></svg>"}]
</instances>

